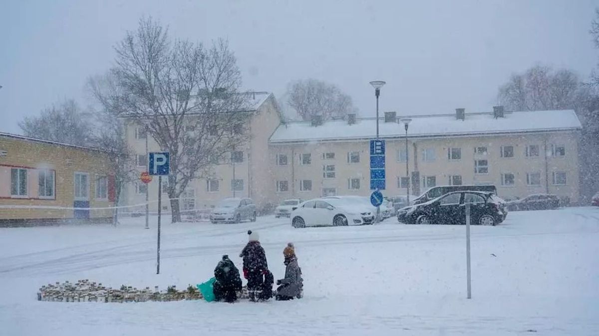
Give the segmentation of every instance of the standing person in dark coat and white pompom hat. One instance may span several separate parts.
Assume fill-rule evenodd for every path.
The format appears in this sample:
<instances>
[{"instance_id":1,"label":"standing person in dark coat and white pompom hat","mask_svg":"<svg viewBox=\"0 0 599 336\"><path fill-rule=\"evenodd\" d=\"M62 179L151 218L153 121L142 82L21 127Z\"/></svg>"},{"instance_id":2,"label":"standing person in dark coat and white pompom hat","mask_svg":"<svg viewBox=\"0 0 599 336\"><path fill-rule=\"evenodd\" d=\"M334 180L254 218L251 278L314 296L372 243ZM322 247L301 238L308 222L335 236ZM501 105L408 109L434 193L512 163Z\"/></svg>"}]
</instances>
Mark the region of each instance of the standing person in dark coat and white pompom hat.
<instances>
[{"instance_id":1,"label":"standing person in dark coat and white pompom hat","mask_svg":"<svg viewBox=\"0 0 599 336\"><path fill-rule=\"evenodd\" d=\"M250 301L257 301L264 288L264 276L268 274L266 253L260 246L258 232L247 231L248 240L246 247L239 255L243 258L243 276L247 279L247 294Z\"/></svg>"}]
</instances>

